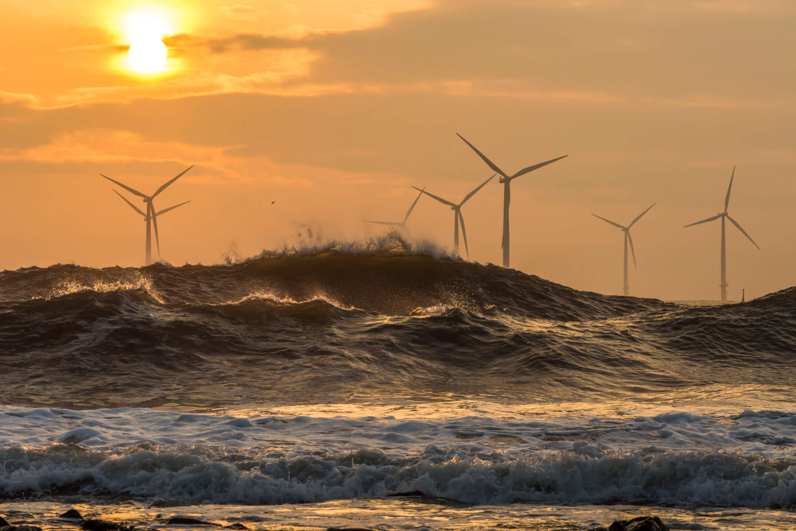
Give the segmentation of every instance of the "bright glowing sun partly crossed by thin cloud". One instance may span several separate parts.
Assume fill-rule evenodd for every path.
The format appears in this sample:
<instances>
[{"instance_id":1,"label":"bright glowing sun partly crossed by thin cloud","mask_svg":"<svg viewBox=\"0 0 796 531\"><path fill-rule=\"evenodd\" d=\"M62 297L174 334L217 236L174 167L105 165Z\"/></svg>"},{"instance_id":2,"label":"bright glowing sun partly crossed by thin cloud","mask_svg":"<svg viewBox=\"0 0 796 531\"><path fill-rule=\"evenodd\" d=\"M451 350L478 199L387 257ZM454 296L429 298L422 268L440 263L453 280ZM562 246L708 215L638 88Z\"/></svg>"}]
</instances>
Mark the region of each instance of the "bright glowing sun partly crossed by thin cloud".
<instances>
[{"instance_id":1,"label":"bright glowing sun partly crossed by thin cloud","mask_svg":"<svg viewBox=\"0 0 796 531\"><path fill-rule=\"evenodd\" d=\"M169 51L163 36L171 33L165 14L157 10L142 10L126 17L130 52L127 67L140 74L154 74L166 69Z\"/></svg>"}]
</instances>

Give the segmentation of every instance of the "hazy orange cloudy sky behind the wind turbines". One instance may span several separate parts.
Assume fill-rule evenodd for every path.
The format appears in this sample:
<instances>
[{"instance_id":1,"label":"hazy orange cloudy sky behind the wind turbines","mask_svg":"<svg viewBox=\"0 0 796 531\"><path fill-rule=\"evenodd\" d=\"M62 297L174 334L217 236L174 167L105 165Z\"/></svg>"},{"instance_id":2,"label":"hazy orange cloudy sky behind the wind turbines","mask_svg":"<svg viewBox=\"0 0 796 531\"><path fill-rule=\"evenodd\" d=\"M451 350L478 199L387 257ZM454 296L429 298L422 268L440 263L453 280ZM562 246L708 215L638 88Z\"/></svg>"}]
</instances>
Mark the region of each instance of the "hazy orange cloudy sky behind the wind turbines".
<instances>
[{"instance_id":1,"label":"hazy orange cloudy sky behind the wind turbines","mask_svg":"<svg viewBox=\"0 0 796 531\"><path fill-rule=\"evenodd\" d=\"M159 196L162 257L212 264L379 232L411 185L459 201L513 173L512 266L632 295L731 299L796 284L792 0L0 0L0 267L140 265L143 221L100 178ZM165 72L126 68L126 17L162 14ZM271 205L275 201L275 205ZM502 189L462 209L470 257L501 263ZM423 197L415 236L452 244Z\"/></svg>"}]
</instances>

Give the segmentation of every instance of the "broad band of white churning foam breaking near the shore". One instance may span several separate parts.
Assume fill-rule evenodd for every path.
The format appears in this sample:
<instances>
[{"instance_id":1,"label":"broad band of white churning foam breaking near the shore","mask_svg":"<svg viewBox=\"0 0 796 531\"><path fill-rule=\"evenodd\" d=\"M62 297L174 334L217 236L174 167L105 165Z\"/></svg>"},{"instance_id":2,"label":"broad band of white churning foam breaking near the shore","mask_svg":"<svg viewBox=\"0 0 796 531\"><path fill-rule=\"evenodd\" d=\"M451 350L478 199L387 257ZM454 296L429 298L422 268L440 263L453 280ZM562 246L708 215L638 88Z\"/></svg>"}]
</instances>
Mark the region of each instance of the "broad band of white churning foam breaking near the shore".
<instances>
[{"instance_id":1,"label":"broad band of white churning foam breaking near the shore","mask_svg":"<svg viewBox=\"0 0 796 531\"><path fill-rule=\"evenodd\" d=\"M284 503L420 490L476 503L796 505L796 415L501 420L0 408L0 489Z\"/></svg>"}]
</instances>

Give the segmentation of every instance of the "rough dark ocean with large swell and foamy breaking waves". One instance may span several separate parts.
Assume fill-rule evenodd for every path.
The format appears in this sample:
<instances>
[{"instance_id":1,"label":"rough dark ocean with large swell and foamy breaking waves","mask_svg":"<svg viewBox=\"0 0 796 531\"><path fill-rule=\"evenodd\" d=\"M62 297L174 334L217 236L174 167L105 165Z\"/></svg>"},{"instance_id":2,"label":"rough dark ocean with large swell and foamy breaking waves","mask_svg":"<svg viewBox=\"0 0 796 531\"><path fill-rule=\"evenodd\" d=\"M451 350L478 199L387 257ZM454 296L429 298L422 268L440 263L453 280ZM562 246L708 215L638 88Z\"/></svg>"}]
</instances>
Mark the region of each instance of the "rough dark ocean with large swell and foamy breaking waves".
<instances>
[{"instance_id":1,"label":"rough dark ocean with large swell and foamy breaking waves","mask_svg":"<svg viewBox=\"0 0 796 531\"><path fill-rule=\"evenodd\" d=\"M796 529L794 361L794 288L599 295L400 240L2 271L0 513Z\"/></svg>"}]
</instances>

